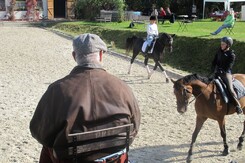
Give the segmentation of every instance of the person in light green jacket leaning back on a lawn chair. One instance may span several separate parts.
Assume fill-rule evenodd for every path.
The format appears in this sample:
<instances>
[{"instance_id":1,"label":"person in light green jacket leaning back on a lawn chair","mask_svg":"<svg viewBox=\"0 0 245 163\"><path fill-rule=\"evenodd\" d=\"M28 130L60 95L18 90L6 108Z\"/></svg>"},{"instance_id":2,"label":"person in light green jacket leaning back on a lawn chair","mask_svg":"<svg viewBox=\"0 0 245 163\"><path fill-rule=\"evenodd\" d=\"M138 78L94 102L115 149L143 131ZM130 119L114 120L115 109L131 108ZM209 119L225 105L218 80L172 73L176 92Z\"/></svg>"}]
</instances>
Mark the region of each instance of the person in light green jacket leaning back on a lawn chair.
<instances>
[{"instance_id":1,"label":"person in light green jacket leaning back on a lawn chair","mask_svg":"<svg viewBox=\"0 0 245 163\"><path fill-rule=\"evenodd\" d=\"M211 35L217 35L225 28L231 28L235 23L235 17L233 11L228 11L228 15L226 16L224 23L215 31L210 33Z\"/></svg>"}]
</instances>

